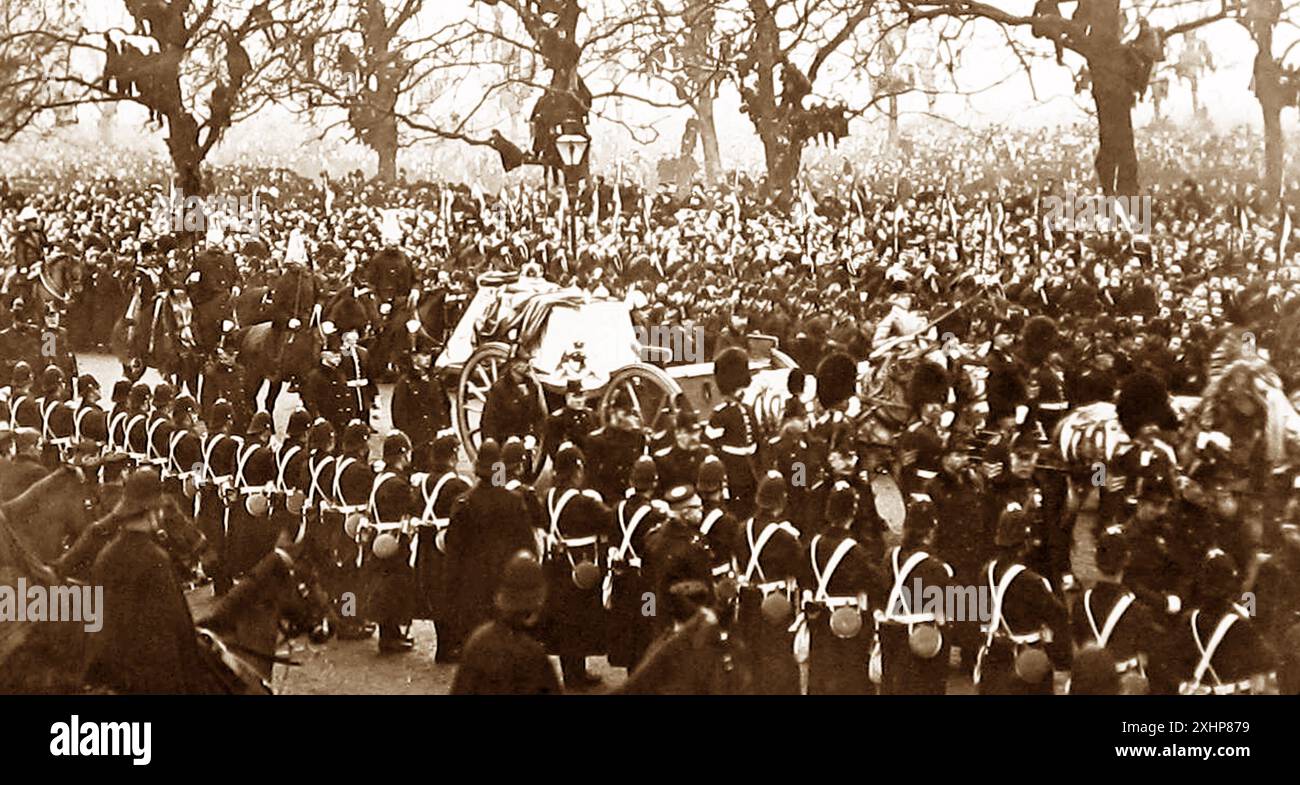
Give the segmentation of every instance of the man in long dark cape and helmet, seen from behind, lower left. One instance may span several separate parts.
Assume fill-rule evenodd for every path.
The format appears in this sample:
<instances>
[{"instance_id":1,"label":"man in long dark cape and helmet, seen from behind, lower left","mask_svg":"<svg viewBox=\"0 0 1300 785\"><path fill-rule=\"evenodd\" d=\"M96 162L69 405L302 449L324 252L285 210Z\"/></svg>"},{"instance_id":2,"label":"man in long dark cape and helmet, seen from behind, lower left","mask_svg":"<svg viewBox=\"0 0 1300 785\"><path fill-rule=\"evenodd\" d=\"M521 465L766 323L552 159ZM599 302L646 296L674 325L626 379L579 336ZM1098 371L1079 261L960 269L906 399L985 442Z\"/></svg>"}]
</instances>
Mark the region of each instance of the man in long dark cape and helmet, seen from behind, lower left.
<instances>
[{"instance_id":1,"label":"man in long dark cape and helmet, seen from behind, lower left","mask_svg":"<svg viewBox=\"0 0 1300 785\"><path fill-rule=\"evenodd\" d=\"M127 694L200 688L204 664L194 619L172 559L155 539L161 503L156 472L139 469L127 478L114 511L121 530L91 569L91 584L104 587L104 628L90 636L88 684Z\"/></svg>"}]
</instances>

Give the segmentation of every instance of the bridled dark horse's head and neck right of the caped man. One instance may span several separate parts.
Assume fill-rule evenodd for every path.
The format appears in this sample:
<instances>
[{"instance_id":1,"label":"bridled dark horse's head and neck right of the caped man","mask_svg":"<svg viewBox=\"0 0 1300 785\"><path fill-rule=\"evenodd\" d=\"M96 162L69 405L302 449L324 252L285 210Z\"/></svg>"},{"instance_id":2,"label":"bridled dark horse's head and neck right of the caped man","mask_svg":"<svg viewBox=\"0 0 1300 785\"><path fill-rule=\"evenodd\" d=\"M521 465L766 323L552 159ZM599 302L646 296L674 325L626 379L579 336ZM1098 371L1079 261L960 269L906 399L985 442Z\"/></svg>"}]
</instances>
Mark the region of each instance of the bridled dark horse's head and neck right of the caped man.
<instances>
[{"instance_id":1,"label":"bridled dark horse's head and neck right of the caped man","mask_svg":"<svg viewBox=\"0 0 1300 785\"><path fill-rule=\"evenodd\" d=\"M276 663L294 664L276 654L283 641L306 634L322 643L332 634L329 598L302 550L283 543L266 554L196 620L200 641L226 665L213 673L213 691L269 694Z\"/></svg>"}]
</instances>

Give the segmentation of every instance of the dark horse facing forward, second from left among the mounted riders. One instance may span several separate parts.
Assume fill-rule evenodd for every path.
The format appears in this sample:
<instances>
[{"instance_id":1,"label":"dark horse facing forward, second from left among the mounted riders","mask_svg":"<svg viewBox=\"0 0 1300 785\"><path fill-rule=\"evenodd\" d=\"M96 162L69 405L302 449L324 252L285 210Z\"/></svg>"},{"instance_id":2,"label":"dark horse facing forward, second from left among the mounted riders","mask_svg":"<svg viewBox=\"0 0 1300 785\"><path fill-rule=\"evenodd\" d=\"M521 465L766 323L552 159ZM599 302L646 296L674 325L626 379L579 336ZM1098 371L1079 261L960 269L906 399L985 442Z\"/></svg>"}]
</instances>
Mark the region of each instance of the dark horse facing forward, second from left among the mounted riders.
<instances>
[{"instance_id":1,"label":"dark horse facing forward, second from left among the mounted riders","mask_svg":"<svg viewBox=\"0 0 1300 785\"><path fill-rule=\"evenodd\" d=\"M139 270L126 313L113 325L113 354L122 373L139 380L147 368L178 382L194 350L192 307L185 294L164 286L162 276Z\"/></svg>"}]
</instances>

